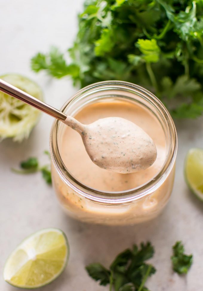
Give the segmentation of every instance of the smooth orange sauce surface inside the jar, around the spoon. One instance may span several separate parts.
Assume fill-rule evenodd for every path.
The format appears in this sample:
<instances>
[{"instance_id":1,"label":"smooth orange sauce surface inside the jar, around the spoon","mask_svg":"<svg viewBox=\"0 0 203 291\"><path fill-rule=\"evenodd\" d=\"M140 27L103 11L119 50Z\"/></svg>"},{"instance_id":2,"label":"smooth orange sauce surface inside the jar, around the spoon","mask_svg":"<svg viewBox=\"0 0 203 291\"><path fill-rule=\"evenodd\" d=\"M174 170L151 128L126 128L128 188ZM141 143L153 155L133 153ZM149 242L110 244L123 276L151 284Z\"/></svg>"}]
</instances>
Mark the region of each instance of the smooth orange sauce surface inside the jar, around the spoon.
<instances>
[{"instance_id":1,"label":"smooth orange sauce surface inside the jar, around the spoon","mask_svg":"<svg viewBox=\"0 0 203 291\"><path fill-rule=\"evenodd\" d=\"M101 191L124 191L148 182L159 172L166 156L165 136L161 124L150 111L127 101L97 102L87 105L74 117L83 124L90 124L112 116L135 123L150 136L150 140L153 140L157 157L150 167L130 174L101 169L90 160L81 136L67 126L61 135L59 152L68 171L81 183ZM123 135L127 134L126 130ZM139 155L138 152L137 154Z\"/></svg>"}]
</instances>

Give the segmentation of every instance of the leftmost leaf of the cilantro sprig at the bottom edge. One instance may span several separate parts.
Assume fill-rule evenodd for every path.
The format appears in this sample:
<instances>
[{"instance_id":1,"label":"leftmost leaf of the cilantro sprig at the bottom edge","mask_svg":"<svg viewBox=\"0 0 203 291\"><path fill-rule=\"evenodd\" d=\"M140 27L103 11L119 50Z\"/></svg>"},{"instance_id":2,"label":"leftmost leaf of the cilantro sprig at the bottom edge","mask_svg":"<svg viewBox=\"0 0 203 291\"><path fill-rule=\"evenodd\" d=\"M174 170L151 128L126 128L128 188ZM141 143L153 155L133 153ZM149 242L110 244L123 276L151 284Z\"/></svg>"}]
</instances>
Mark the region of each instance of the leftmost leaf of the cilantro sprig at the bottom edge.
<instances>
[{"instance_id":1,"label":"leftmost leaf of the cilantro sprig at the bottom edge","mask_svg":"<svg viewBox=\"0 0 203 291\"><path fill-rule=\"evenodd\" d=\"M95 281L100 281L100 285L106 286L110 283L110 271L99 263L89 264L85 267L90 277Z\"/></svg>"}]
</instances>

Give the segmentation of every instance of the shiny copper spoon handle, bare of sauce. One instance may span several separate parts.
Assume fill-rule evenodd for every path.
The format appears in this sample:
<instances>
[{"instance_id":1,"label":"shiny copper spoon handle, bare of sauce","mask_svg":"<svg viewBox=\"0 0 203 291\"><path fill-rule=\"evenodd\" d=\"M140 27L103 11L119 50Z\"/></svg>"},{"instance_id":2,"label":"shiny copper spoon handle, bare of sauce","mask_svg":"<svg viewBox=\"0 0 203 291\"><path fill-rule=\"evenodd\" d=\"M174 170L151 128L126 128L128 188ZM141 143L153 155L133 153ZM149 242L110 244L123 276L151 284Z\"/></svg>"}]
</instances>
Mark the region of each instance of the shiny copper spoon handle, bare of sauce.
<instances>
[{"instance_id":1,"label":"shiny copper spoon handle, bare of sauce","mask_svg":"<svg viewBox=\"0 0 203 291\"><path fill-rule=\"evenodd\" d=\"M51 107L50 105L38 100L37 98L31 96L30 94L27 94L26 92L16 88L13 85L10 85L9 83L3 81L0 79L0 91L11 95L33 107L35 107L38 110L41 110L42 112L51 115L52 117L59 119L61 121L65 121L67 118L67 115L63 112Z\"/></svg>"}]
</instances>

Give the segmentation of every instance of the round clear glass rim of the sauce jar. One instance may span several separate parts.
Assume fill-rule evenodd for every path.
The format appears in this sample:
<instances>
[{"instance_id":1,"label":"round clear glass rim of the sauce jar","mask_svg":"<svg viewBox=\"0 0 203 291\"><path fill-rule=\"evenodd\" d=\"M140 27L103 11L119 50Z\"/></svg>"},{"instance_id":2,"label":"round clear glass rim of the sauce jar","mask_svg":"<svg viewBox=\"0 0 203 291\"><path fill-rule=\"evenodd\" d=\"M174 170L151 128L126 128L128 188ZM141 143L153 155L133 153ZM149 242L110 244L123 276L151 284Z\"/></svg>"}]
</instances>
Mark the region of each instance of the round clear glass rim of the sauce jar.
<instances>
[{"instance_id":1,"label":"round clear glass rim of the sauce jar","mask_svg":"<svg viewBox=\"0 0 203 291\"><path fill-rule=\"evenodd\" d=\"M134 93L136 93L137 91L140 94L144 94L148 99L150 99L151 102L153 102L154 106L156 105L156 107L160 110L160 112L164 116L164 119L166 120L168 129L170 131L170 145L162 168L159 170L156 176L154 176L148 182L133 189L108 192L88 187L87 185L84 185L83 183L78 181L75 177L73 177L63 164L63 160L59 153L59 147L57 142L59 120L55 120L53 122L50 131L50 153L53 165L56 168L56 171L60 175L61 179L70 188L72 188L73 191L76 191L81 196L96 201L97 203L117 204L137 200L141 197L147 196L154 192L166 180L170 171L173 168L177 154L177 133L174 122L172 120L172 117L170 116L170 113L165 108L164 104L154 94L152 94L150 91L139 85L124 81L103 81L88 85L80 89L79 91L76 92L76 94L70 97L62 106L61 111L64 112L67 106L71 102L74 102L74 100L76 100L76 98L78 98L79 96L83 96L85 93L91 92L91 90L99 88L130 89L134 91ZM56 145L56 150L53 144Z\"/></svg>"}]
</instances>

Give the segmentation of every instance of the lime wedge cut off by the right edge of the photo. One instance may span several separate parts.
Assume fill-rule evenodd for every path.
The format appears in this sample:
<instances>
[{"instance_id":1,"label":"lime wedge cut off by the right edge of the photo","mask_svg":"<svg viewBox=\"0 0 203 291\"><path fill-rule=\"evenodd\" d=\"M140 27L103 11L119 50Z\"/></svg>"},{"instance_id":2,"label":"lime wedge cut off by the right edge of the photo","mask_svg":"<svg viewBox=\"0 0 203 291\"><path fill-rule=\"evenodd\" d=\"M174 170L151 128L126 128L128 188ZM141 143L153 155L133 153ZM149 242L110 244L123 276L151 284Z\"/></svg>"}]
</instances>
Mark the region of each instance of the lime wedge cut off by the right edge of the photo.
<instances>
[{"instance_id":1,"label":"lime wedge cut off by the right edge of the photo","mask_svg":"<svg viewBox=\"0 0 203 291\"><path fill-rule=\"evenodd\" d=\"M191 191L203 201L203 149L191 148L185 159L185 180Z\"/></svg>"}]
</instances>

